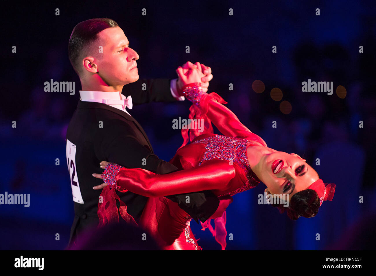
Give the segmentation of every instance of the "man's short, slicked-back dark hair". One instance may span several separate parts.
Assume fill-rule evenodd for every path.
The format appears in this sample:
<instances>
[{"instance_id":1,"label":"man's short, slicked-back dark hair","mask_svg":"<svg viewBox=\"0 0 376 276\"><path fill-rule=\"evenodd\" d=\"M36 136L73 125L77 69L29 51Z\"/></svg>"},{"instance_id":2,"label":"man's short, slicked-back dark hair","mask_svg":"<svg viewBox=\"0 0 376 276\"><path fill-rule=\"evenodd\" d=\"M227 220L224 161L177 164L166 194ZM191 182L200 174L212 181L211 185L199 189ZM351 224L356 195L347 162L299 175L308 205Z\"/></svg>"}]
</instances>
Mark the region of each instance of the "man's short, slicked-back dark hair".
<instances>
[{"instance_id":1,"label":"man's short, slicked-back dark hair","mask_svg":"<svg viewBox=\"0 0 376 276\"><path fill-rule=\"evenodd\" d=\"M98 51L98 33L106 28L118 27L118 24L109 18L93 18L82 21L73 28L69 43L68 56L74 71L80 76L83 72L82 58Z\"/></svg>"}]
</instances>

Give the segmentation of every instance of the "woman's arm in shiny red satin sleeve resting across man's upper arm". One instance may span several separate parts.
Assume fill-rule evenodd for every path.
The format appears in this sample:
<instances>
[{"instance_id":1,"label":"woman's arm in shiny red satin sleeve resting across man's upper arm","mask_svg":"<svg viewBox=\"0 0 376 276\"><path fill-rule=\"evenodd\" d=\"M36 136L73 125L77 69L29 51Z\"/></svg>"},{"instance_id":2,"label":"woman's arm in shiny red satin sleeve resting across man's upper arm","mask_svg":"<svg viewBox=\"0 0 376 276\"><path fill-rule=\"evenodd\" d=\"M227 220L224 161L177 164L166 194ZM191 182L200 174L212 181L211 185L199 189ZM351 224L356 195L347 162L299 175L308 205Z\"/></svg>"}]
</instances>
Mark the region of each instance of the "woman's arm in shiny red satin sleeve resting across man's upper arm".
<instances>
[{"instance_id":1,"label":"woman's arm in shiny red satin sleeve resting across man's upper arm","mask_svg":"<svg viewBox=\"0 0 376 276\"><path fill-rule=\"evenodd\" d=\"M147 197L158 197L202 190L225 190L233 177L235 169L228 161L211 160L197 168L169 174L155 174L139 168L119 168L110 163L100 178L121 192L129 190Z\"/></svg>"}]
</instances>

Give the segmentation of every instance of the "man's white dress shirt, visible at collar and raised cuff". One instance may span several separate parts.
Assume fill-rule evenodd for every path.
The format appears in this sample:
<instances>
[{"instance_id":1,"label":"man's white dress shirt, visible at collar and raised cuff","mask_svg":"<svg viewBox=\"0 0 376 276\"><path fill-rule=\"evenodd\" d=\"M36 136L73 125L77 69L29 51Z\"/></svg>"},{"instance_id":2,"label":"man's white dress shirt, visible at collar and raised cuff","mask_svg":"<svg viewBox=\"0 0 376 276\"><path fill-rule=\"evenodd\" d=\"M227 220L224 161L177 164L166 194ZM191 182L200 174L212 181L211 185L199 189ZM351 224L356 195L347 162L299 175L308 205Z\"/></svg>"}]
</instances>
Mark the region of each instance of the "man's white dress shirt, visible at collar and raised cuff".
<instances>
[{"instance_id":1,"label":"man's white dress shirt, visible at collar and raised cuff","mask_svg":"<svg viewBox=\"0 0 376 276\"><path fill-rule=\"evenodd\" d=\"M171 80L170 82L170 91L171 95L177 100L177 101L184 101L184 96L179 96L176 89L176 82L177 79ZM121 92L104 92L104 91L82 91L80 90L80 100L83 102L92 102L91 100L96 100L99 102L102 102L102 99L108 99L108 100L125 100L127 97L121 94ZM131 97L132 98L132 97ZM122 110L126 112L128 115L129 112L126 110L125 105L109 105L111 107L117 108L119 110ZM130 115L132 116L132 115Z\"/></svg>"}]
</instances>

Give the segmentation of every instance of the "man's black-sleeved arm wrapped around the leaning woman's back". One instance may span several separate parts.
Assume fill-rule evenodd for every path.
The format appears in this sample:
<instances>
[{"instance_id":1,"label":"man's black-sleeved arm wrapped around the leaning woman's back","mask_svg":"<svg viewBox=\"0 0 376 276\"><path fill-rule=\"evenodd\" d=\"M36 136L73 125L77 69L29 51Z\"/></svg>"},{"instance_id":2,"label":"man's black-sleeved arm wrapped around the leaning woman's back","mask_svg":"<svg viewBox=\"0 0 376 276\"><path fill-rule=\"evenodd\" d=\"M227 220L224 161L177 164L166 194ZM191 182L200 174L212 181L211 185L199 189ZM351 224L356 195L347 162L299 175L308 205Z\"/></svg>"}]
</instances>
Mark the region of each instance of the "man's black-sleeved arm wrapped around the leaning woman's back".
<instances>
[{"instance_id":1,"label":"man's black-sleeved arm wrapped around the leaning woman's back","mask_svg":"<svg viewBox=\"0 0 376 276\"><path fill-rule=\"evenodd\" d=\"M115 122L116 121L116 122ZM100 148L104 149L106 161L117 163L126 168L142 168L156 174L166 174L177 171L176 166L159 159L149 148L141 145L129 125L120 120L111 122L111 137L103 139ZM188 198L186 197L188 196ZM176 202L197 223L205 222L215 213L219 199L211 191L166 196Z\"/></svg>"}]
</instances>

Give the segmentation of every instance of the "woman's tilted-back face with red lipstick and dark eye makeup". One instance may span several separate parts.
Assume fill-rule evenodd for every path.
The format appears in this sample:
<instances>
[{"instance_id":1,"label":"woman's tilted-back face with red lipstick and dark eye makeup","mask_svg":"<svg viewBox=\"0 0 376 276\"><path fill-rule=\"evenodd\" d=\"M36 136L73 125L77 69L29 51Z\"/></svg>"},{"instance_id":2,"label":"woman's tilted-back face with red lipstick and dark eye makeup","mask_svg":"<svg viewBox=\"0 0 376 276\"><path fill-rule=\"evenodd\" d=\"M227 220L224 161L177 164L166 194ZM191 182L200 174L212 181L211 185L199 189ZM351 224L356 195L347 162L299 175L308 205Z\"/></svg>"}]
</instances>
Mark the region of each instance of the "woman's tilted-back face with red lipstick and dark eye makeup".
<instances>
[{"instance_id":1,"label":"woman's tilted-back face with red lipstick and dark eye makeup","mask_svg":"<svg viewBox=\"0 0 376 276\"><path fill-rule=\"evenodd\" d=\"M262 178L262 179L261 179ZM293 153L276 151L267 154L261 168L260 180L272 194L288 194L289 199L319 179L317 172L305 159Z\"/></svg>"}]
</instances>

